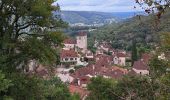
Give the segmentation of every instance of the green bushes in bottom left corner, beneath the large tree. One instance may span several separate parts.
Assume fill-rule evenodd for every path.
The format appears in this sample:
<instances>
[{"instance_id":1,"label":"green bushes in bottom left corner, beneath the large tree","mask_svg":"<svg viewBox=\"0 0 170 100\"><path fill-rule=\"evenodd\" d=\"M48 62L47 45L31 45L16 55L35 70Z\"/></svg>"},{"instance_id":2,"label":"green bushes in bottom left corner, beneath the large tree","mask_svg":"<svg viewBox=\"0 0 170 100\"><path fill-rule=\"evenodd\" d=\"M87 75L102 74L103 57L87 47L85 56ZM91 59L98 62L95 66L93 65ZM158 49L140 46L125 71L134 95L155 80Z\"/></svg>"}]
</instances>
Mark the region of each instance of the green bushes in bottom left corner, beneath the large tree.
<instances>
[{"instance_id":1,"label":"green bushes in bottom left corner, beneath the large tree","mask_svg":"<svg viewBox=\"0 0 170 100\"><path fill-rule=\"evenodd\" d=\"M44 80L20 73L12 73L8 77L11 81L0 79L0 98L5 100L9 97L12 100L78 100L78 96L72 97L67 86L58 78Z\"/></svg>"}]
</instances>

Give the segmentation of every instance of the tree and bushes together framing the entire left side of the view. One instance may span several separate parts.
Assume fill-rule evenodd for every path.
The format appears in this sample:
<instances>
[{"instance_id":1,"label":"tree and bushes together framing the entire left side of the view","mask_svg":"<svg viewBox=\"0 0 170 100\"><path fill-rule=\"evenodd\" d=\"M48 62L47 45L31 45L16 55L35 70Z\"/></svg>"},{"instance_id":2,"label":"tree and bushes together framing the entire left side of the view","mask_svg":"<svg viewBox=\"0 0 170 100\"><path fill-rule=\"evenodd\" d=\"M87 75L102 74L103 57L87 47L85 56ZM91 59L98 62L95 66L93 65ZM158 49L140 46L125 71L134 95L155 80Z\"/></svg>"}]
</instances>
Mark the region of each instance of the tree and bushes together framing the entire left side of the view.
<instances>
[{"instance_id":1,"label":"tree and bushes together framing the entire left side of the view","mask_svg":"<svg viewBox=\"0 0 170 100\"><path fill-rule=\"evenodd\" d=\"M53 0L0 0L0 100L72 100L59 79L27 75L30 60L55 65L67 24ZM76 97L73 99L75 100Z\"/></svg>"}]
</instances>

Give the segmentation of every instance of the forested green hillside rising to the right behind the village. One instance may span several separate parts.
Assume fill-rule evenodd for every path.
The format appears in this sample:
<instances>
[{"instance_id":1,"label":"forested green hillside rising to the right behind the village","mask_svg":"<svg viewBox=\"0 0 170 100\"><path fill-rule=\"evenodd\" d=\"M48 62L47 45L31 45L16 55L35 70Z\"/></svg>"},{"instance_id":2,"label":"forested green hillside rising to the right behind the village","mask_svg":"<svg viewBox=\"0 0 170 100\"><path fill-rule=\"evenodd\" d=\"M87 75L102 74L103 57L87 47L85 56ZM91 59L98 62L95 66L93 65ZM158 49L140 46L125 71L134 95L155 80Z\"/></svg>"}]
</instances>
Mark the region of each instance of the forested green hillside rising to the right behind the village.
<instances>
[{"instance_id":1,"label":"forested green hillside rising to the right behind the village","mask_svg":"<svg viewBox=\"0 0 170 100\"><path fill-rule=\"evenodd\" d=\"M106 25L91 32L89 42L96 38L98 41L111 41L115 48L129 50L132 40L136 39L139 46L149 48L159 40L158 33L170 32L169 16L170 13L165 13L158 23L155 23L155 16L150 15L136 16L122 23Z\"/></svg>"}]
</instances>

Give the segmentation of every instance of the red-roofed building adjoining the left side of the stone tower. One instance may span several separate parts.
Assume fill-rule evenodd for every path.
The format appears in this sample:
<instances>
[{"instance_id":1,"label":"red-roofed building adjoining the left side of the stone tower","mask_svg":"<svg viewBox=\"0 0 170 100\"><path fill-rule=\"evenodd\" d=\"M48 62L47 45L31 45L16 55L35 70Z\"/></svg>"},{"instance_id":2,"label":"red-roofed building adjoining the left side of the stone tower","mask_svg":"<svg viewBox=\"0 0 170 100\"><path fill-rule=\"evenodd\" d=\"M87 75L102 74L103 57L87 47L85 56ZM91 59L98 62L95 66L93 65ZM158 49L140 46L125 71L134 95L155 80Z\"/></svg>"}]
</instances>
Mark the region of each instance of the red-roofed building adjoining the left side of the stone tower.
<instances>
[{"instance_id":1,"label":"red-roofed building adjoining the left side of the stone tower","mask_svg":"<svg viewBox=\"0 0 170 100\"><path fill-rule=\"evenodd\" d=\"M64 48L65 50L74 49L76 47L76 40L68 38L64 40Z\"/></svg>"}]
</instances>

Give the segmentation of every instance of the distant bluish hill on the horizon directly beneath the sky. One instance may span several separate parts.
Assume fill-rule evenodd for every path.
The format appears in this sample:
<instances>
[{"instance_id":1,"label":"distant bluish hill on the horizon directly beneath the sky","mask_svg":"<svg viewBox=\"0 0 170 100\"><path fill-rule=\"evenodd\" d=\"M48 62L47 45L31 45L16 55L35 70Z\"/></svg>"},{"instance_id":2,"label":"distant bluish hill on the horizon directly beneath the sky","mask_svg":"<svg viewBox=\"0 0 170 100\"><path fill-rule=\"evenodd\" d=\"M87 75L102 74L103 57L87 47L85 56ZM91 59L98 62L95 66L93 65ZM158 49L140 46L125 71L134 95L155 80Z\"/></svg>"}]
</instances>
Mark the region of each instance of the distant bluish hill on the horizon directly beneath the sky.
<instances>
[{"instance_id":1,"label":"distant bluish hill on the horizon directly beneath the sky","mask_svg":"<svg viewBox=\"0 0 170 100\"><path fill-rule=\"evenodd\" d=\"M56 14L56 13L55 13ZM61 11L62 19L72 25L103 25L130 18L134 12Z\"/></svg>"}]
</instances>

